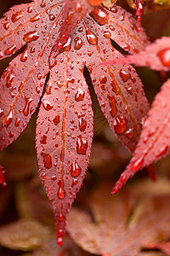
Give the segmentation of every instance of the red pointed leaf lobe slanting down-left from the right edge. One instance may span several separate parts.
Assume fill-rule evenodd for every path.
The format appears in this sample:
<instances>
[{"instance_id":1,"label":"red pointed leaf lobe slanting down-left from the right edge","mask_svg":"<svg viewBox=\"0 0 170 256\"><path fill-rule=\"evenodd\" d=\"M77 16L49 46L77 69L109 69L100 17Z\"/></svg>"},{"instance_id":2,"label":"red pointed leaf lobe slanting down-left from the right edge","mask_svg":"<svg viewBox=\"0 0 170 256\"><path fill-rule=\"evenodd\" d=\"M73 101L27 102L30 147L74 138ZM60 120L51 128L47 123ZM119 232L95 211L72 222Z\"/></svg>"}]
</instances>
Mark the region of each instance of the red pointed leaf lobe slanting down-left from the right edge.
<instances>
[{"instance_id":1,"label":"red pointed leaf lobe slanting down-left from the right edge","mask_svg":"<svg viewBox=\"0 0 170 256\"><path fill-rule=\"evenodd\" d=\"M126 170L122 172L120 179L111 192L114 194L118 189L122 189L129 177L133 177L135 172L145 166L150 166L156 160L166 156L170 145L170 79L161 87L161 92L156 95L152 108L145 120L139 138L139 143L133 153Z\"/></svg>"}]
</instances>

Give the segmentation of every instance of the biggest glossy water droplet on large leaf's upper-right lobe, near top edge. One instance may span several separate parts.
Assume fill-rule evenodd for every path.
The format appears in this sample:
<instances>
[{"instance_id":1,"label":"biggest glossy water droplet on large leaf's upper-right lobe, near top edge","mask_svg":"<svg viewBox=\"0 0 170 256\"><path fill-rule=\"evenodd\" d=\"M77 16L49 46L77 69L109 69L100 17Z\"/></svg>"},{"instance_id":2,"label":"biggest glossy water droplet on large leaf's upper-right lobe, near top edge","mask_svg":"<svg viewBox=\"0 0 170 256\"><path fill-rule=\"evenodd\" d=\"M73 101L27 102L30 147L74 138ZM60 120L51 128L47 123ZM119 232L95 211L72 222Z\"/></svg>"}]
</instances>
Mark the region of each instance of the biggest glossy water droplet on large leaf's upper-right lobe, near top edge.
<instances>
[{"instance_id":1,"label":"biggest glossy water droplet on large leaf's upper-right lobe, near top edge","mask_svg":"<svg viewBox=\"0 0 170 256\"><path fill-rule=\"evenodd\" d=\"M106 12L106 10L102 7L99 7L97 9L94 9L91 13L90 16L92 18L94 18L94 20L96 20L96 22L98 22L98 24L100 26L105 25L108 20L109 20L109 16Z\"/></svg>"}]
</instances>

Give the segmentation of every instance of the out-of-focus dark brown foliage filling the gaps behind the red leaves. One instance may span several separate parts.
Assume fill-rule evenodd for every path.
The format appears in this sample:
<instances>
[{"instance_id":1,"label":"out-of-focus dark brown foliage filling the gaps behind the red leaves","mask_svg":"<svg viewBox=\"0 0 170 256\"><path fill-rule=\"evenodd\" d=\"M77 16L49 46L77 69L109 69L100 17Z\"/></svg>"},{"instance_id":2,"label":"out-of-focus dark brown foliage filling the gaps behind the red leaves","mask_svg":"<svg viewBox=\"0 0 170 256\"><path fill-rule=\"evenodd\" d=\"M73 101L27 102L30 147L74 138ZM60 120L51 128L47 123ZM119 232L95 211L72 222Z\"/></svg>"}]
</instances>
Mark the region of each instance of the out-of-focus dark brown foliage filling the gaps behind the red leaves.
<instances>
[{"instance_id":1,"label":"out-of-focus dark brown foliage filling the gaps behind the red leaves","mask_svg":"<svg viewBox=\"0 0 170 256\"><path fill-rule=\"evenodd\" d=\"M15 4L29 2L31 1L1 1L0 17ZM125 0L121 0L118 1L117 4L122 5L135 15L135 10L133 9L134 4L132 2L128 1L127 3ZM161 36L170 36L169 5L170 3L165 3L164 0L163 3L150 0L145 3L142 23L150 41L160 38ZM1 73L3 73L3 70L8 66L10 60L11 58L7 58L0 62ZM145 67L137 68L137 72L143 80L144 91L151 103L156 93L160 90L161 84L169 77L169 73L157 73ZM91 95L93 96L94 144L92 146L87 176L83 182L82 189L77 195L74 206L90 213L92 210L89 199L94 193L93 191L97 193L101 183L105 183L106 187L111 188L111 184L112 186L115 184L116 179L124 170L131 155L127 149L117 141L103 113L101 113L92 88L89 73L86 69L84 75L91 90ZM38 177L37 170L35 150L37 111L32 116L30 123L20 137L0 154L0 164L6 170L6 179L8 182L7 189L0 189L0 255L93 255L88 248L87 250L84 249L76 238L74 239L73 237L73 241L68 234L65 237L63 248L59 248L56 245L52 207L50 206L40 178ZM156 166L150 166L147 170L145 169L143 172L139 172L129 183L133 188L133 184L140 182L140 180L142 184L143 177L147 177L148 174L150 177L153 177L155 172L159 177L158 179L161 178L165 180L165 183L169 182L170 156L159 161ZM154 182L150 182L150 186L157 185ZM158 187L158 190L159 189ZM120 195L121 193L123 197L126 197L123 191L119 192ZM169 192L167 191L167 193ZM148 194L150 194L150 191ZM148 194L144 194L145 198L147 198ZM109 192L107 196L109 197ZM93 204L93 202L91 202L91 204ZM107 219L107 215L105 215L105 219ZM71 230L71 225L69 225L69 230ZM166 235L162 235L159 239L160 241L162 241L162 239L168 241L170 239L170 230L169 234L166 233ZM140 247L140 245L137 246ZM161 252L161 250L157 249L153 251L150 249L144 251L141 255L163 256L167 254L165 251Z\"/></svg>"}]
</instances>

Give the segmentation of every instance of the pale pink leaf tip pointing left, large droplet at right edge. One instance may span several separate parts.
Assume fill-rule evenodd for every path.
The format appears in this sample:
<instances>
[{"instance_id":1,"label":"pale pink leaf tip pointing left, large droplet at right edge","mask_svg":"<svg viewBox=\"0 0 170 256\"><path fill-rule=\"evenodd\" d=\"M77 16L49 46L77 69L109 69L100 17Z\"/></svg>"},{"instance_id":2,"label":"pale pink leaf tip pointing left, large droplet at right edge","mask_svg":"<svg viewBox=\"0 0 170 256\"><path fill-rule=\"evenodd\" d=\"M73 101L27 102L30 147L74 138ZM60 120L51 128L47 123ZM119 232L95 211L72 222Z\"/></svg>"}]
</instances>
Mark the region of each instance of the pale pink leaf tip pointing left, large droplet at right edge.
<instances>
[{"instance_id":1,"label":"pale pink leaf tip pointing left, large droplet at right edge","mask_svg":"<svg viewBox=\"0 0 170 256\"><path fill-rule=\"evenodd\" d=\"M168 71L170 68L170 37L157 39L136 55L127 55L126 58L106 61L105 64L132 63L139 67L150 67L155 70Z\"/></svg>"}]
</instances>

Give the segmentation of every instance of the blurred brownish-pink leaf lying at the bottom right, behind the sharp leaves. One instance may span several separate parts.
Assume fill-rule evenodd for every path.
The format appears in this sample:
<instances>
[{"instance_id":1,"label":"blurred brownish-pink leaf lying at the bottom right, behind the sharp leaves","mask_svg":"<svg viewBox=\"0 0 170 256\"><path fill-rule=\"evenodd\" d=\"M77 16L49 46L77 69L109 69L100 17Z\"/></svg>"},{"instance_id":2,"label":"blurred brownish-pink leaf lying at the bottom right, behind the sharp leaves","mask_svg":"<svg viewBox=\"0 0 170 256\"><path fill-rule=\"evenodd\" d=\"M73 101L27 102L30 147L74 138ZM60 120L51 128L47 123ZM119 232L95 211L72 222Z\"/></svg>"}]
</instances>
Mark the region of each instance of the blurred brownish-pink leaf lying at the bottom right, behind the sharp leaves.
<instances>
[{"instance_id":1,"label":"blurred brownish-pink leaf lying at the bottom right, behind the sharp leaves","mask_svg":"<svg viewBox=\"0 0 170 256\"><path fill-rule=\"evenodd\" d=\"M141 248L146 242L160 242L170 235L169 182L160 180L155 189L151 183L142 180L113 197L108 197L108 183L97 188L89 202L92 216L71 209L67 229L72 239L89 253L145 255Z\"/></svg>"}]
</instances>

